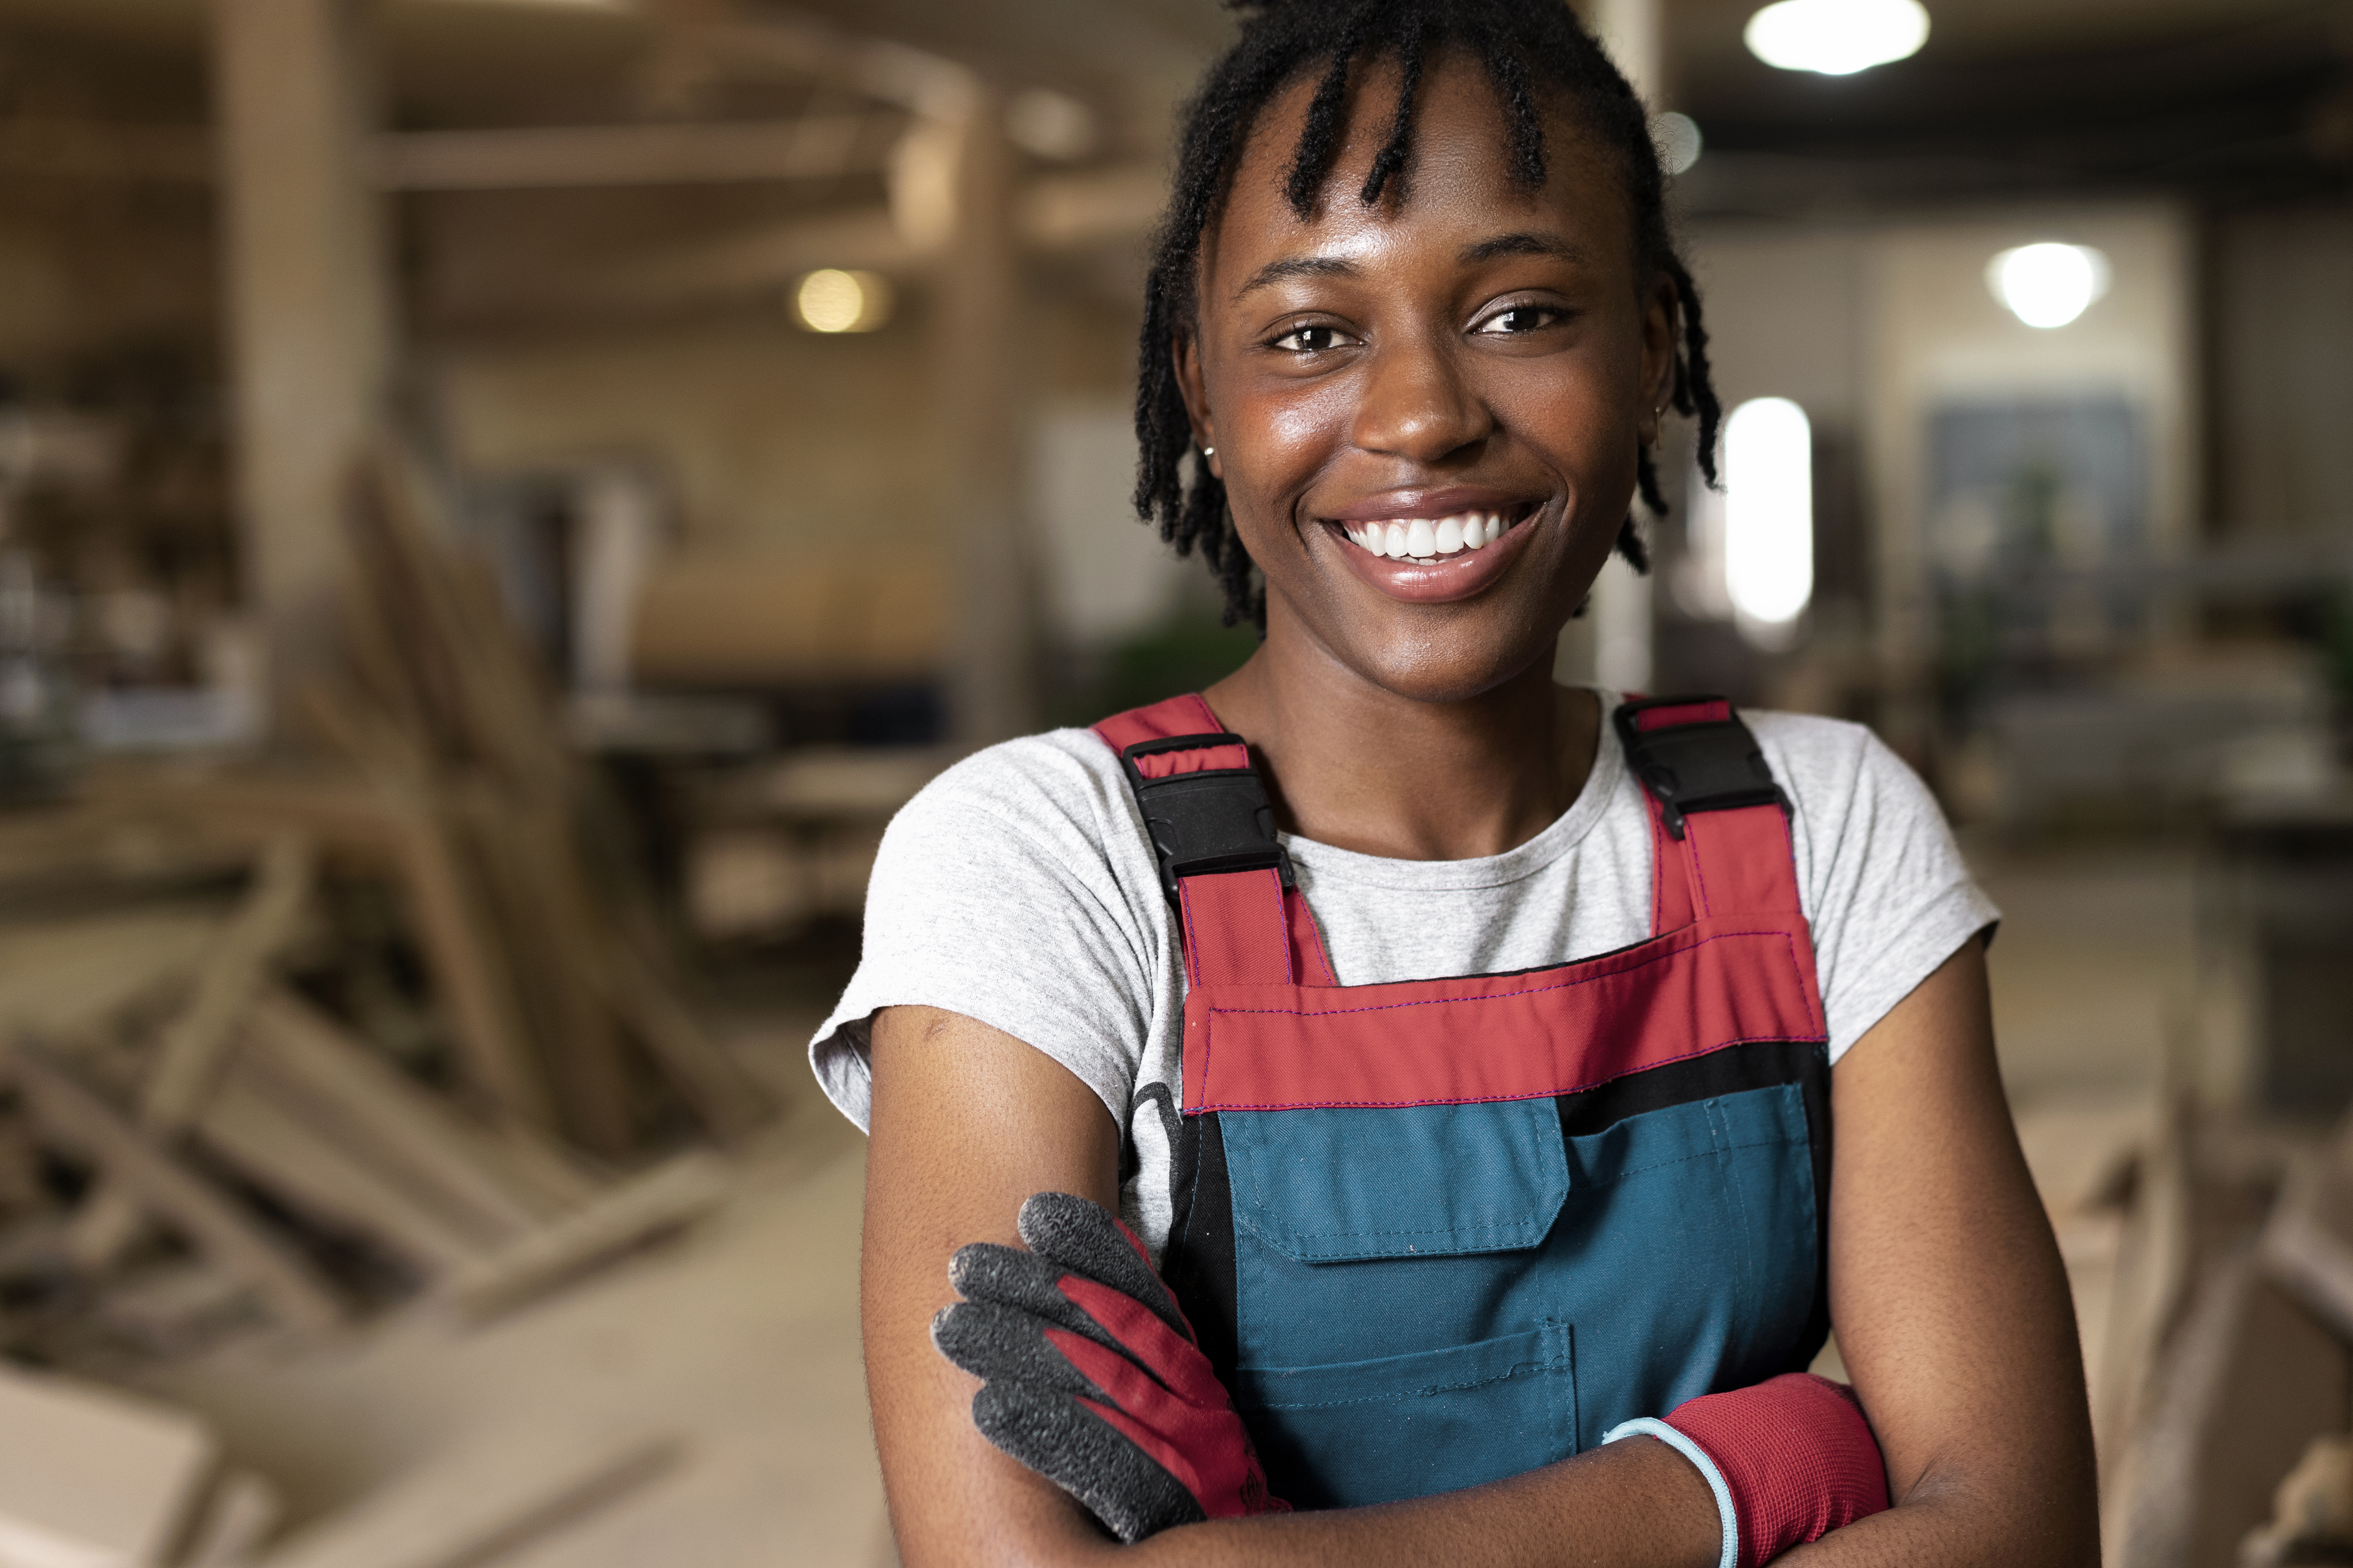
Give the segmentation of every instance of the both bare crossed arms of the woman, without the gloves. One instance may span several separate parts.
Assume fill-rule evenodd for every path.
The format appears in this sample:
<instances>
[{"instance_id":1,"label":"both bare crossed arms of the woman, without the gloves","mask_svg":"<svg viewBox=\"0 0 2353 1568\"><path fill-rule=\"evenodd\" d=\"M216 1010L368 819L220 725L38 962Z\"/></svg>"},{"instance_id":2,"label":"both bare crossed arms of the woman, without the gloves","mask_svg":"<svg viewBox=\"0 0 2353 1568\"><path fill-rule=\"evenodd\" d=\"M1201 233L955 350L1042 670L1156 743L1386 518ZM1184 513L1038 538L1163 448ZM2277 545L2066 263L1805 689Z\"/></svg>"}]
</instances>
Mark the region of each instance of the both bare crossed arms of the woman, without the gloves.
<instances>
[{"instance_id":1,"label":"both bare crossed arms of the woman, without the gloves","mask_svg":"<svg viewBox=\"0 0 2353 1568\"><path fill-rule=\"evenodd\" d=\"M1715 1500L1647 1441L1377 1509L1228 1519L1136 1547L972 1427L976 1382L929 1340L948 1258L1014 1244L1033 1192L1118 1206L1120 1128L1068 1070L969 1018L873 1032L864 1331L875 1441L908 1568L1200 1563L1713 1563ZM1993 1063L1965 943L1831 1074L1831 1319L1887 1458L1885 1514L1781 1561L2097 1561L2092 1436L2066 1274Z\"/></svg>"}]
</instances>

